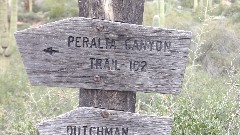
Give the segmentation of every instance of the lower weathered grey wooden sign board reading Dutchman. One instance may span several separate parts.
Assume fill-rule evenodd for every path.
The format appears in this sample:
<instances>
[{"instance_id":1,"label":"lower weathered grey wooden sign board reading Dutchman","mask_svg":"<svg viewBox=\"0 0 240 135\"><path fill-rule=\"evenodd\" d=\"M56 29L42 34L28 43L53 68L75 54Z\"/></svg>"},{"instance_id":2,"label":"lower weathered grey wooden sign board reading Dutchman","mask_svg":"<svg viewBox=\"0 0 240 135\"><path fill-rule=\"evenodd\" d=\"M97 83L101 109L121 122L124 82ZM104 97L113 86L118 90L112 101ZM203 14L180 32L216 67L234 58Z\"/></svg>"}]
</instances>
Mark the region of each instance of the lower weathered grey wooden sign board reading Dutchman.
<instances>
[{"instance_id":1,"label":"lower weathered grey wooden sign board reading Dutchman","mask_svg":"<svg viewBox=\"0 0 240 135\"><path fill-rule=\"evenodd\" d=\"M172 119L82 107L38 124L41 135L168 135Z\"/></svg>"}]
</instances>

